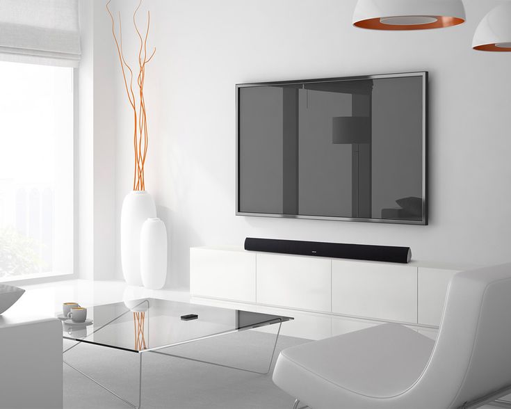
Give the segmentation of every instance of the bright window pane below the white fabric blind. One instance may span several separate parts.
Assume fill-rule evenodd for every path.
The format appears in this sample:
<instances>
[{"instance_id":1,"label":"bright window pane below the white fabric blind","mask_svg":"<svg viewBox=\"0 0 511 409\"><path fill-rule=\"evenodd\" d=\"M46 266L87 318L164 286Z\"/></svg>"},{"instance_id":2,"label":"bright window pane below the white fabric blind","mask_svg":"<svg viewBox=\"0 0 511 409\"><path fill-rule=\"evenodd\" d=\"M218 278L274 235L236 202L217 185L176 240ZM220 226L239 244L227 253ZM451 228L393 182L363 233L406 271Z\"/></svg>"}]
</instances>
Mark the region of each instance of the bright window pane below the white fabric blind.
<instances>
[{"instance_id":1,"label":"bright window pane below the white fabric blind","mask_svg":"<svg viewBox=\"0 0 511 409\"><path fill-rule=\"evenodd\" d=\"M73 70L0 62L0 282L73 272Z\"/></svg>"}]
</instances>

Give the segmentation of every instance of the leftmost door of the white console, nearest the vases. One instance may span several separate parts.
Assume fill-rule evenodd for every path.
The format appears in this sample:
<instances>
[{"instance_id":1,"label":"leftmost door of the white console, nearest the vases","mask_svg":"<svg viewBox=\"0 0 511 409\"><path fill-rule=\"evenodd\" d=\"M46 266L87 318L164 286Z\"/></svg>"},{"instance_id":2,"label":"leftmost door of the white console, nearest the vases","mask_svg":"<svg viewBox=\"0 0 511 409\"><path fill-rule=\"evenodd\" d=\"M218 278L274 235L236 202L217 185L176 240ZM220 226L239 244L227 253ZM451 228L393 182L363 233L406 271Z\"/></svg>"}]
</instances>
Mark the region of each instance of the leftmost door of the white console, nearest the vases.
<instances>
[{"instance_id":1,"label":"leftmost door of the white console, nearest the vases","mask_svg":"<svg viewBox=\"0 0 511 409\"><path fill-rule=\"evenodd\" d=\"M190 248L190 294L255 303L254 252Z\"/></svg>"}]
</instances>

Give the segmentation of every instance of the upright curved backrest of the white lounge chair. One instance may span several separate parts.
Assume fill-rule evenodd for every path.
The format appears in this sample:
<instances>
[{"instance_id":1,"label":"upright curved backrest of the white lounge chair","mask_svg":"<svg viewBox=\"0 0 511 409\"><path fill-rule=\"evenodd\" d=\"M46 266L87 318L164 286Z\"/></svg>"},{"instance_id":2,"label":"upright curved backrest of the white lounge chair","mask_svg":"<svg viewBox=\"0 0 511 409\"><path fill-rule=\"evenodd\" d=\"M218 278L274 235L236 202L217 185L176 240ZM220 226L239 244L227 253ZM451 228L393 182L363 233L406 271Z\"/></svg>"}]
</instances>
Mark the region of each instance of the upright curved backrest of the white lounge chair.
<instances>
[{"instance_id":1,"label":"upright curved backrest of the white lounge chair","mask_svg":"<svg viewBox=\"0 0 511 409\"><path fill-rule=\"evenodd\" d=\"M453 276L419 384L446 408L511 387L511 264Z\"/></svg>"}]
</instances>

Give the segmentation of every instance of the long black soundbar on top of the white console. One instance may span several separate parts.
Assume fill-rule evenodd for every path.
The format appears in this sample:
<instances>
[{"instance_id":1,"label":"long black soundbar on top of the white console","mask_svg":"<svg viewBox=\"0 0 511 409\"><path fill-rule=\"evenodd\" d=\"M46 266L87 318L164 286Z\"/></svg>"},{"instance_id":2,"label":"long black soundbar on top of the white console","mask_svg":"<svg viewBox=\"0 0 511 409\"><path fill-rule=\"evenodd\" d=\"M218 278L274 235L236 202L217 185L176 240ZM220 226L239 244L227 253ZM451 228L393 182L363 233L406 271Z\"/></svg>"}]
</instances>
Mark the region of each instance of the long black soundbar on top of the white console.
<instances>
[{"instance_id":1,"label":"long black soundbar on top of the white console","mask_svg":"<svg viewBox=\"0 0 511 409\"><path fill-rule=\"evenodd\" d=\"M408 263L412 258L412 251L409 247L256 239L254 237L245 239L245 250L391 263Z\"/></svg>"}]
</instances>

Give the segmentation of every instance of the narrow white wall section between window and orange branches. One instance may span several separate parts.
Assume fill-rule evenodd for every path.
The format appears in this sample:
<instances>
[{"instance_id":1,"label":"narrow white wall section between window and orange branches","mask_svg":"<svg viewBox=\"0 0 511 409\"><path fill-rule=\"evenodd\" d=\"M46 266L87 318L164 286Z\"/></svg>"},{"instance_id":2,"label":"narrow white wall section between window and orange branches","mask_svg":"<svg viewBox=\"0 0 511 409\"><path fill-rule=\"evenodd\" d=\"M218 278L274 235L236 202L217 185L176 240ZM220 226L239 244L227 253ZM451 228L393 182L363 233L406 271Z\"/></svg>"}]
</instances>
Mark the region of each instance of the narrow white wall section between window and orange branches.
<instances>
[{"instance_id":1,"label":"narrow white wall section between window and orange branches","mask_svg":"<svg viewBox=\"0 0 511 409\"><path fill-rule=\"evenodd\" d=\"M115 56L104 41L109 39L109 21L104 3L80 2L76 271L79 278L87 279L115 275Z\"/></svg>"}]
</instances>

